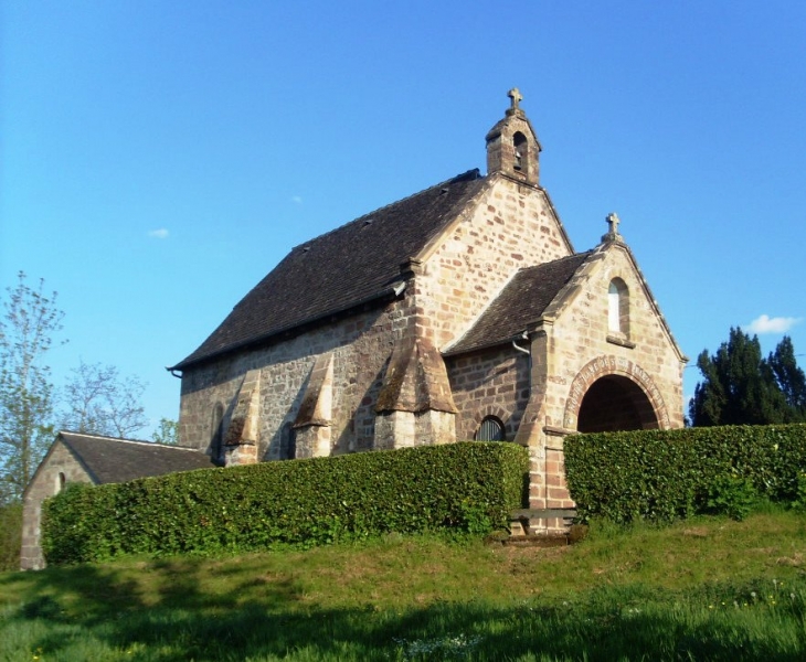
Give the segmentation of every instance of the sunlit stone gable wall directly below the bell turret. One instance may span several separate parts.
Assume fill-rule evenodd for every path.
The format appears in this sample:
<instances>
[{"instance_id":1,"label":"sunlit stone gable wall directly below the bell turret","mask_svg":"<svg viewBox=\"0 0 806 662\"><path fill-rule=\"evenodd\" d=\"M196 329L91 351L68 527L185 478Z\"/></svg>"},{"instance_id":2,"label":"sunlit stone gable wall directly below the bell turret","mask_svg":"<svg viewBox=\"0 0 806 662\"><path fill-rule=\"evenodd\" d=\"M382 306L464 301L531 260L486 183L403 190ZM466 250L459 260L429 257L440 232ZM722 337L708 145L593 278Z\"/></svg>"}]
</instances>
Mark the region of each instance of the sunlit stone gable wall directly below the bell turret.
<instances>
[{"instance_id":1,"label":"sunlit stone gable wall directly below the bell turret","mask_svg":"<svg viewBox=\"0 0 806 662\"><path fill-rule=\"evenodd\" d=\"M570 255L545 194L502 175L424 260L416 280L423 335L444 349L465 333L518 269Z\"/></svg>"}]
</instances>

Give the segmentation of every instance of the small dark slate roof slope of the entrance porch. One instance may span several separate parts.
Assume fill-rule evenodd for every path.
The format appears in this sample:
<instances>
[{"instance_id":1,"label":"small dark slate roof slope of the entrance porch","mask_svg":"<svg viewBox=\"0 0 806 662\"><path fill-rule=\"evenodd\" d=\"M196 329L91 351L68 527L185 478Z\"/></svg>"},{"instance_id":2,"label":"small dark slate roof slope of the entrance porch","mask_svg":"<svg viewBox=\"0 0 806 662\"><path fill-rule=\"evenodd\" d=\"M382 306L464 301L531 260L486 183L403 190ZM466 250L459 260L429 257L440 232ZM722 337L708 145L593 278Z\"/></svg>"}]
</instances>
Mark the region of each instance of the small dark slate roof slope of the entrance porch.
<instances>
[{"instance_id":1,"label":"small dark slate roof slope of the entrance porch","mask_svg":"<svg viewBox=\"0 0 806 662\"><path fill-rule=\"evenodd\" d=\"M518 271L476 323L445 355L510 342L538 320L592 252L577 253Z\"/></svg>"}]
</instances>

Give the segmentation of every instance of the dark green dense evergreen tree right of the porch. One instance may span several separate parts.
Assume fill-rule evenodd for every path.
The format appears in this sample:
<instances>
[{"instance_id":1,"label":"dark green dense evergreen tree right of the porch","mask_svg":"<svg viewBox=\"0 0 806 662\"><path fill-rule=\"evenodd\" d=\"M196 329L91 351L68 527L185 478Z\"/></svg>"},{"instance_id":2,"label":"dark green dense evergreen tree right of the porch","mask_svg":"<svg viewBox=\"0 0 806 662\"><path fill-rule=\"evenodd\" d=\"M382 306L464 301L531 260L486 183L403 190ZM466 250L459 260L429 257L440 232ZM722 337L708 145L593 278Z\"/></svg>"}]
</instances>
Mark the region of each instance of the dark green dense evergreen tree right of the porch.
<instances>
[{"instance_id":1,"label":"dark green dense evergreen tree right of the porch","mask_svg":"<svg viewBox=\"0 0 806 662\"><path fill-rule=\"evenodd\" d=\"M792 341L785 337L768 360L762 359L759 338L731 328L728 342L715 354L697 357L702 382L689 404L694 426L766 425L803 420L793 403L803 385ZM798 381L800 380L800 381ZM792 393L792 397L787 395Z\"/></svg>"}]
</instances>

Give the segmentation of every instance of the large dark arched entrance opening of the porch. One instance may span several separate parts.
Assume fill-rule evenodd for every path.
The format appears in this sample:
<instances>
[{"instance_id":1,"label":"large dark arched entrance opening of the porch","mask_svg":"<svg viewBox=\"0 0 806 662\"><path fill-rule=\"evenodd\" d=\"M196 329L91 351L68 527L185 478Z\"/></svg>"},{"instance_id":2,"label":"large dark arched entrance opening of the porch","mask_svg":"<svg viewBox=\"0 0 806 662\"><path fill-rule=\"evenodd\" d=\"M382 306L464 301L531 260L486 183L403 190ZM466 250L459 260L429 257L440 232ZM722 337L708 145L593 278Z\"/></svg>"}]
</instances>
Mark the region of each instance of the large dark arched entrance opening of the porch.
<instances>
[{"instance_id":1,"label":"large dark arched entrance opening of the porch","mask_svg":"<svg viewBox=\"0 0 806 662\"><path fill-rule=\"evenodd\" d=\"M658 429L658 417L644 389L622 375L605 375L591 384L582 398L580 433Z\"/></svg>"}]
</instances>

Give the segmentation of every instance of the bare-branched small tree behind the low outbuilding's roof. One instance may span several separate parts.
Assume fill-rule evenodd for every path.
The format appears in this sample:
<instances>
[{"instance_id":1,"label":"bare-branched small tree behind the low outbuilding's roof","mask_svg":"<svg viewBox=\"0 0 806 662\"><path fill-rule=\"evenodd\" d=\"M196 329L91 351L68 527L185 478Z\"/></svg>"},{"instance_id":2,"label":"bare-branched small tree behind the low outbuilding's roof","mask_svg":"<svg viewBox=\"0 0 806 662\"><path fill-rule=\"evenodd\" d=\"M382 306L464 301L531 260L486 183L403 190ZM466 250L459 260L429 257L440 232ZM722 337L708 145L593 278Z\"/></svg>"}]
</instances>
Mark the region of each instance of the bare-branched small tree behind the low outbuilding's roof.
<instances>
[{"instance_id":1,"label":"bare-branched small tree behind the low outbuilding's roof","mask_svg":"<svg viewBox=\"0 0 806 662\"><path fill-rule=\"evenodd\" d=\"M121 376L114 365L78 364L64 388L63 429L87 435L130 438L148 425L141 404L146 385Z\"/></svg>"}]
</instances>

